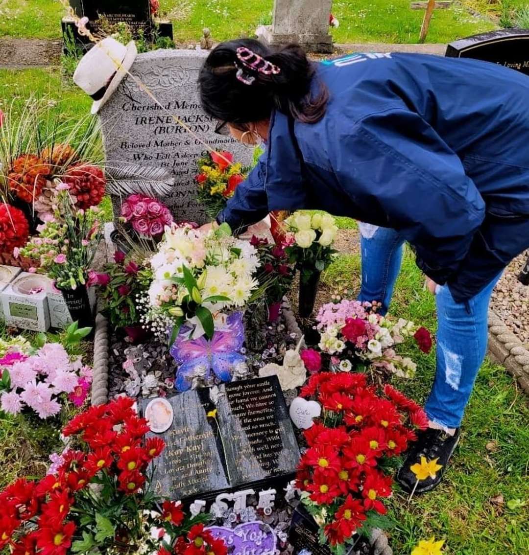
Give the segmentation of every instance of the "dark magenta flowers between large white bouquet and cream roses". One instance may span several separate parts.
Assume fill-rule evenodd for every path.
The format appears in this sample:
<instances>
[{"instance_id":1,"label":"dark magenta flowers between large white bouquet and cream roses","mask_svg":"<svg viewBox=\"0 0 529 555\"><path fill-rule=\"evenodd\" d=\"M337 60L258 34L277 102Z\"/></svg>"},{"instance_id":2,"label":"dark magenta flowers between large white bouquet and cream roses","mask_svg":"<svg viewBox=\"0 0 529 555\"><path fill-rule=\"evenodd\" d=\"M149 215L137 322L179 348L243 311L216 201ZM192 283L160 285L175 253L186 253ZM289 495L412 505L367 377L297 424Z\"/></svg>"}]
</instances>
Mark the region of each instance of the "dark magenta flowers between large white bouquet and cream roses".
<instances>
[{"instance_id":1,"label":"dark magenta flowers between large white bouquet and cream roses","mask_svg":"<svg viewBox=\"0 0 529 555\"><path fill-rule=\"evenodd\" d=\"M271 244L268 239L255 235L250 239L250 244L256 248L261 263L257 281L265 290L268 321L273 322L279 316L283 297L292 286L294 271L288 264L284 246Z\"/></svg>"}]
</instances>

